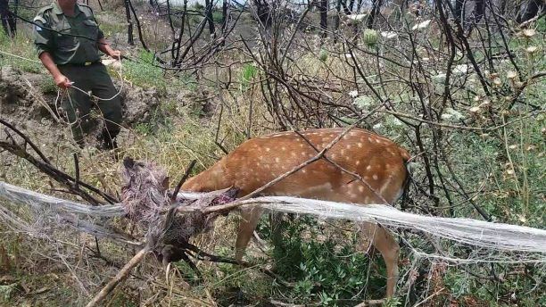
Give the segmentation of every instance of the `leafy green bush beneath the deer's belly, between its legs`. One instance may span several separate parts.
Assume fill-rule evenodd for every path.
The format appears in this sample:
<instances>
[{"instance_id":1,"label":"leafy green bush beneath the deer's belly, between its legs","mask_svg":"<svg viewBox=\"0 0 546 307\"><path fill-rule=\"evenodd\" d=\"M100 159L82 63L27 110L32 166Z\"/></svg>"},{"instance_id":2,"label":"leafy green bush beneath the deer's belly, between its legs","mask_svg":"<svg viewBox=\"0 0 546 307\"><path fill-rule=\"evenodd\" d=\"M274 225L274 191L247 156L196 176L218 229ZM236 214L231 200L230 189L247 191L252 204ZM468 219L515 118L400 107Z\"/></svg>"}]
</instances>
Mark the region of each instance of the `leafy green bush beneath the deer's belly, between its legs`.
<instances>
[{"instance_id":1,"label":"leafy green bush beneath the deer's belly, between its legs","mask_svg":"<svg viewBox=\"0 0 546 307\"><path fill-rule=\"evenodd\" d=\"M261 223L259 232L273 243L276 272L295 283L285 295L297 303L345 306L360 303L367 295L385 295L385 278L380 277L385 275L385 265L374 260L377 269L370 271L368 254L355 251L359 245L355 234L345 240L327 236L317 221L307 216L268 224ZM277 231L266 231L271 227Z\"/></svg>"}]
</instances>

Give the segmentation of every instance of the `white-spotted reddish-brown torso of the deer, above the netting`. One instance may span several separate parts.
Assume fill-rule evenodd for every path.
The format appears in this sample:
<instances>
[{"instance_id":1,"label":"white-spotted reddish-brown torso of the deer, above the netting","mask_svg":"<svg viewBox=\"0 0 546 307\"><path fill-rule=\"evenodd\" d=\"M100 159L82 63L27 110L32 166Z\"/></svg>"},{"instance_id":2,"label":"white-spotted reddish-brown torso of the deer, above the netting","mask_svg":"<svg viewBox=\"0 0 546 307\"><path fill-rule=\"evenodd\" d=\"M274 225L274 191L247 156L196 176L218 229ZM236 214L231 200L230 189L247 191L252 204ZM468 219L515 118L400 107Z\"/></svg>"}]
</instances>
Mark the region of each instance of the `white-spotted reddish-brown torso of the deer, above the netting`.
<instances>
[{"instance_id":1,"label":"white-spotted reddish-brown torso of the deer, above the netting","mask_svg":"<svg viewBox=\"0 0 546 307\"><path fill-rule=\"evenodd\" d=\"M240 189L239 196L246 195L306 162L342 131L313 129L302 132L309 143L294 132L252 138L207 170L209 180L221 176L223 186L237 187ZM387 202L393 203L401 195L409 154L391 140L364 129L353 129L330 148L326 156L343 169L359 174ZM278 182L263 194L350 203L382 203L368 185L321 159Z\"/></svg>"}]
</instances>

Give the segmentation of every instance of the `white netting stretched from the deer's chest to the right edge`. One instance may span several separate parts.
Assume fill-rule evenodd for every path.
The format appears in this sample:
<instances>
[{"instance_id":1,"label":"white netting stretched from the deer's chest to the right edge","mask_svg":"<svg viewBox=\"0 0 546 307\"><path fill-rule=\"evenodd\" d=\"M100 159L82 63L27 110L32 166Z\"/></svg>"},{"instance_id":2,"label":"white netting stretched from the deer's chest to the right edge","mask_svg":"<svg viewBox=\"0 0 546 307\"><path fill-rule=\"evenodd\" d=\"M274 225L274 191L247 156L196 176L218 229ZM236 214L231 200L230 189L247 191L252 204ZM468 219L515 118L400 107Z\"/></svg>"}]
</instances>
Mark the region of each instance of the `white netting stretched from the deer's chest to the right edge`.
<instances>
[{"instance_id":1,"label":"white netting stretched from the deer's chest to the right edge","mask_svg":"<svg viewBox=\"0 0 546 307\"><path fill-rule=\"evenodd\" d=\"M244 201L276 212L312 214L322 219L376 222L400 233L401 229L426 234L435 251L424 251L405 241L417 256L459 263L527 262L546 264L546 230L493 223L484 220L441 218L401 212L384 204L355 205L297 197L271 196ZM441 246L440 239L446 243ZM453 255L455 245L466 246L468 253ZM448 246L446 248L446 246ZM472 248L468 248L472 246Z\"/></svg>"}]
</instances>

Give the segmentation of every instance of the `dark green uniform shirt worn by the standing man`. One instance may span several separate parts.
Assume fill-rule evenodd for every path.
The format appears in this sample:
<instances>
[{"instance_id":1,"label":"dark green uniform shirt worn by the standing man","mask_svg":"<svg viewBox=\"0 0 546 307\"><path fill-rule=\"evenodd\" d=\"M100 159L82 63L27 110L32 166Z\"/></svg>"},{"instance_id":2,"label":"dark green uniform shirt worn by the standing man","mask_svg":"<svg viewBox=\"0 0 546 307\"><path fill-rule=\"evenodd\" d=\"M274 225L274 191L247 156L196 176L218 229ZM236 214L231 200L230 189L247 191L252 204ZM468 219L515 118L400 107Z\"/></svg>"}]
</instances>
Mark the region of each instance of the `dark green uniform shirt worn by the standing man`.
<instances>
[{"instance_id":1,"label":"dark green uniform shirt worn by the standing man","mask_svg":"<svg viewBox=\"0 0 546 307\"><path fill-rule=\"evenodd\" d=\"M98 40L104 35L89 6L76 4L74 16L70 17L54 1L38 11L34 22L34 44L38 56L44 52L52 54L57 65L83 64L100 59Z\"/></svg>"}]
</instances>

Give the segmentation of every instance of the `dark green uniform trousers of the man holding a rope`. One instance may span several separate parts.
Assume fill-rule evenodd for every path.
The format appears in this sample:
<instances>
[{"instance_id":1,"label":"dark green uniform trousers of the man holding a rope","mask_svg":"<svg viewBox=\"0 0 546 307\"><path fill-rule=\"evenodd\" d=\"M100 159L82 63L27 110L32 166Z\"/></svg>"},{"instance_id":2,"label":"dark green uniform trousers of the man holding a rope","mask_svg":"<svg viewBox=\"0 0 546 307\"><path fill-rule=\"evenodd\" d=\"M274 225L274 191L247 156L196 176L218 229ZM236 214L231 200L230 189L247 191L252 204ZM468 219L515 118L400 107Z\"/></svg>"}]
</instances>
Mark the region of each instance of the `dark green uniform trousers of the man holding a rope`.
<instances>
[{"instance_id":1,"label":"dark green uniform trousers of the man holding a rope","mask_svg":"<svg viewBox=\"0 0 546 307\"><path fill-rule=\"evenodd\" d=\"M102 63L89 66L59 65L59 70L74 82L73 86L79 87L86 93L91 91L93 95L102 99L110 99L118 93ZM111 100L99 100L98 103L95 103L86 93L82 93L76 88L70 88L70 99L63 100L62 110L66 112L67 120L70 121L72 137L79 145L83 144L84 136L93 125L89 111L95 106L101 119L104 120L102 141L106 147L115 146L112 143L115 144L115 137L120 132L121 124L120 96Z\"/></svg>"}]
</instances>

